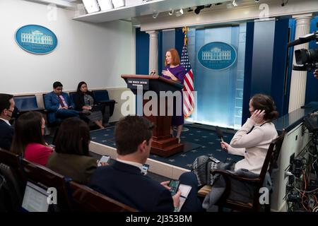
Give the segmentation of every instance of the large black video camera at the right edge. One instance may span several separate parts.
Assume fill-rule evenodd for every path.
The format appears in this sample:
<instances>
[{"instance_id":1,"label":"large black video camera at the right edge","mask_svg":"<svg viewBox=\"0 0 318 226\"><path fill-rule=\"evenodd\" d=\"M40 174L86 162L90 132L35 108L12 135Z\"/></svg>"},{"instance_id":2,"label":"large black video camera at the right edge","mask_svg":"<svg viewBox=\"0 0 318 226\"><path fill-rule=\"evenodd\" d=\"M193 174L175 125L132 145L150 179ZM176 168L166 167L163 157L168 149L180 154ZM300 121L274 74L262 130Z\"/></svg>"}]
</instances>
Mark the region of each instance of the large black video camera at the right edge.
<instances>
[{"instance_id":1,"label":"large black video camera at the right edge","mask_svg":"<svg viewBox=\"0 0 318 226\"><path fill-rule=\"evenodd\" d=\"M318 30L312 34L300 37L298 40L288 43L288 48L298 44L303 44L316 40L318 43ZM298 65L293 65L295 71L314 71L318 69L318 49L298 49L295 50L295 59Z\"/></svg>"}]
</instances>

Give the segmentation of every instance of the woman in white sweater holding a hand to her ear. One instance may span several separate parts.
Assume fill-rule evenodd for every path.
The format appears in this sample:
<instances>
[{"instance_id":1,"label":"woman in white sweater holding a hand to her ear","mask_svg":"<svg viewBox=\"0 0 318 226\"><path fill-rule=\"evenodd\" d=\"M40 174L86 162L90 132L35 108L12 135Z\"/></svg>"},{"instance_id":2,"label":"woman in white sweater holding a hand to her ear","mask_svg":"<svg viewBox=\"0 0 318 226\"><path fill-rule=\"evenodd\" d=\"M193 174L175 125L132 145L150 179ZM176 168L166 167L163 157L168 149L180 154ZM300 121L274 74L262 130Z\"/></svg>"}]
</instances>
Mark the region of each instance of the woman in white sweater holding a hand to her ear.
<instances>
[{"instance_id":1,"label":"woman in white sweater holding a hand to her ear","mask_svg":"<svg viewBox=\"0 0 318 226\"><path fill-rule=\"evenodd\" d=\"M263 94L254 95L249 100L249 112L251 117L235 133L230 144L221 142L221 146L230 154L244 156L235 164L235 171L248 169L249 172L260 174L269 144L278 136L271 123L278 117L278 112L273 99Z\"/></svg>"}]
</instances>

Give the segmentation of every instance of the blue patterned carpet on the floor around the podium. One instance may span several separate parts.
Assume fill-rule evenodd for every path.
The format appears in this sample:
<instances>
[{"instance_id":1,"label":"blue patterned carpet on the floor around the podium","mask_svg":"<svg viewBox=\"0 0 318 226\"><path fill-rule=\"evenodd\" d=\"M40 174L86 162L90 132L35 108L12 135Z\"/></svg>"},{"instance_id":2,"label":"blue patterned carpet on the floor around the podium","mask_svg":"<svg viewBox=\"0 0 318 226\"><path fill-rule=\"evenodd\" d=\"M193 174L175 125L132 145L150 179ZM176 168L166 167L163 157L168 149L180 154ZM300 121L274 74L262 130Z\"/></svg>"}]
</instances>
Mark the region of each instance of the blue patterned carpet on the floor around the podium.
<instances>
[{"instance_id":1,"label":"blue patterned carpet on the floor around the podium","mask_svg":"<svg viewBox=\"0 0 318 226\"><path fill-rule=\"evenodd\" d=\"M211 129L195 128L194 126L185 127L187 127L189 131L182 132L181 141L197 143L201 145L199 148L183 153L178 153L176 155L171 155L170 157L160 157L158 155L151 154L150 158L185 169L191 169L192 162L194 162L196 157L200 155L214 156L222 162L237 162L242 159L242 157L240 156L225 153L225 151L220 148L220 139L216 135L215 131ZM90 132L92 141L111 146L112 148L116 148L113 134L114 127ZM223 132L223 135L225 142L230 143L233 134Z\"/></svg>"}]
</instances>

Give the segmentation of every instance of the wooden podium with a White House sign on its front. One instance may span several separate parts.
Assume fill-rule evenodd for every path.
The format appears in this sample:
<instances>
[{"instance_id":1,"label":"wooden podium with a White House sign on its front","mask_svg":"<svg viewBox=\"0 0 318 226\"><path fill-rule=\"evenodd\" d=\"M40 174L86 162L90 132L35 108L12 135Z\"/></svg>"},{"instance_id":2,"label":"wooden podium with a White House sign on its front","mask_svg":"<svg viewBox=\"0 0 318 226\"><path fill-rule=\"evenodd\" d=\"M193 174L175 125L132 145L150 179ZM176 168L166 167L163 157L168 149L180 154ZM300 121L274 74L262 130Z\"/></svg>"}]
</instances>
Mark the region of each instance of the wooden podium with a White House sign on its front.
<instances>
[{"instance_id":1,"label":"wooden podium with a White House sign on its front","mask_svg":"<svg viewBox=\"0 0 318 226\"><path fill-rule=\"evenodd\" d=\"M127 83L127 88L130 88L131 91L137 95L137 89L142 88L143 95L146 91L153 91L158 95L158 114L146 116L143 114L143 117L150 120L155 124L155 129L153 129L153 143L151 145L151 153L154 155L159 155L163 157L167 157L170 155L174 155L175 153L179 153L183 151L184 145L182 143L178 143L177 138L172 138L170 135L170 127L171 127L171 119L172 116L160 116L160 107L165 107L167 113L167 101L165 102L165 106L160 106L160 91L171 91L174 93L179 90L182 91L183 85L163 78L161 76L143 76L143 75L122 75L122 78ZM143 98L143 107L147 104L148 101ZM138 102L137 102L138 105ZM182 110L182 109L181 109Z\"/></svg>"}]
</instances>

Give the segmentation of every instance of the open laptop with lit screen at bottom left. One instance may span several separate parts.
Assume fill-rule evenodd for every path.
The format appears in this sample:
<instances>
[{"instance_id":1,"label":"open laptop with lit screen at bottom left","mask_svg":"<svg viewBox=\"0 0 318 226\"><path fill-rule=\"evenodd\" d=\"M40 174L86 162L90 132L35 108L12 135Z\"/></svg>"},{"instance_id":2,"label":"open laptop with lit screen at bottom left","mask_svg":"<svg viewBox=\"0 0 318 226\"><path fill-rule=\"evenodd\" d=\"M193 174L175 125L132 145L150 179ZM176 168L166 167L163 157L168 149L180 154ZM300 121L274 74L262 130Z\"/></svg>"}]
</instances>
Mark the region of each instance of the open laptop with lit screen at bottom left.
<instances>
[{"instance_id":1,"label":"open laptop with lit screen at bottom left","mask_svg":"<svg viewBox=\"0 0 318 226\"><path fill-rule=\"evenodd\" d=\"M45 189L27 182L23 196L22 210L24 212L48 212L48 197L49 194Z\"/></svg>"}]
</instances>

